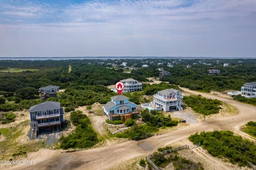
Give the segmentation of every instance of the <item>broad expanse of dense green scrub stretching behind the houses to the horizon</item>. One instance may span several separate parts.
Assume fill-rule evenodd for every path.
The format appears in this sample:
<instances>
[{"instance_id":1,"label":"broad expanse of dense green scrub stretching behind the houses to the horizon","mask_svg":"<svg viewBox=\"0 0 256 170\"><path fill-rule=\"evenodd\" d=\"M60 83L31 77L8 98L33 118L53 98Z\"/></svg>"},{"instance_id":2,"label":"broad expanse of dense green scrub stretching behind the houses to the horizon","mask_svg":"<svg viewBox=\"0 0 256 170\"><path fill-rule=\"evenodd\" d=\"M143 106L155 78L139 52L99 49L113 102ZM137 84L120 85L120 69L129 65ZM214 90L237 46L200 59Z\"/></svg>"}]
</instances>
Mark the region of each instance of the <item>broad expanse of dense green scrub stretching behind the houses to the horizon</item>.
<instances>
[{"instance_id":1,"label":"broad expanse of dense green scrub stretching behind the houses to the horizon","mask_svg":"<svg viewBox=\"0 0 256 170\"><path fill-rule=\"evenodd\" d=\"M149 68L141 68L141 65L148 61ZM170 71L171 75L161 78L164 82L161 84L143 84L142 92L126 93L130 101L141 104L149 102L144 95L153 95L157 91L166 88L175 88L179 90L177 85L188 87L191 90L205 91L224 91L239 90L245 82L256 80L256 72L253 59L220 59L205 60L204 62L212 64L206 66L199 64L200 60L175 60L161 59L164 63L163 67L166 71ZM167 62L179 62L174 67L167 67ZM240 62L238 62L240 61ZM58 85L61 89L66 89L60 93L58 99L49 99L51 101L60 101L61 106L66 111L73 111L78 106L88 106L95 102L106 103L110 100L110 96L116 93L110 91L106 86L113 85L121 79L134 78L140 82L149 81L147 77L158 77L157 59L143 60L60 60L60 61L11 61L2 60L0 70L9 68L34 69L33 71L21 72L0 72L0 111L17 111L28 109L29 107L41 103L38 95L38 88L47 85ZM138 67L131 73L124 72L123 66L113 68L107 64L121 64L127 62L128 66ZM151 62L151 63L150 63ZM153 62L153 63L152 63ZM197 63L197 64L193 64ZM228 68L223 68L223 63L229 63ZM192 68L185 69L187 64L191 64ZM243 66L241 66L243 64ZM69 66L72 71L69 71ZM214 67L215 66L215 67ZM219 75L208 75L207 70L210 68L220 69ZM175 84L175 85L174 85ZM253 99L248 102L256 103Z\"/></svg>"}]
</instances>

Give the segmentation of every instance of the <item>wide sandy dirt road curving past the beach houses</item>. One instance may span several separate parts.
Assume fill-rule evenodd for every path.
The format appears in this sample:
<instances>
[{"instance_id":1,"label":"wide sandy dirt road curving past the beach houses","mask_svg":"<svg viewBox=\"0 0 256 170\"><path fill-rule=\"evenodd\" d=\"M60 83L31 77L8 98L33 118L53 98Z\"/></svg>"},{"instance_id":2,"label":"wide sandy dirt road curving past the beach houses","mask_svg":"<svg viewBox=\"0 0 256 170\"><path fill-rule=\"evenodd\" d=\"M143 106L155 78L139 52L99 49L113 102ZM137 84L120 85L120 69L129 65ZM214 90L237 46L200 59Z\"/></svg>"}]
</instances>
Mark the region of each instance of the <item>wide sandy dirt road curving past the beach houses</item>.
<instances>
[{"instance_id":1,"label":"wide sandy dirt road curving past the beach houses","mask_svg":"<svg viewBox=\"0 0 256 170\"><path fill-rule=\"evenodd\" d=\"M213 129L230 130L248 139L252 139L251 136L239 131L239 127L250 120L256 121L256 107L212 94L191 91L187 88L182 88L182 90L231 104L238 108L239 114L206 120L205 122L179 128L177 131L143 140L144 142L147 141L147 143L150 143L150 146L153 146L153 149L150 151L145 151L139 146L138 143L143 141L127 141L102 148L70 153L55 153L51 156L36 159L36 165L18 165L4 169L108 169L122 161L152 153L159 147L185 140L189 135L196 132L212 131ZM220 169L225 168L222 167Z\"/></svg>"}]
</instances>

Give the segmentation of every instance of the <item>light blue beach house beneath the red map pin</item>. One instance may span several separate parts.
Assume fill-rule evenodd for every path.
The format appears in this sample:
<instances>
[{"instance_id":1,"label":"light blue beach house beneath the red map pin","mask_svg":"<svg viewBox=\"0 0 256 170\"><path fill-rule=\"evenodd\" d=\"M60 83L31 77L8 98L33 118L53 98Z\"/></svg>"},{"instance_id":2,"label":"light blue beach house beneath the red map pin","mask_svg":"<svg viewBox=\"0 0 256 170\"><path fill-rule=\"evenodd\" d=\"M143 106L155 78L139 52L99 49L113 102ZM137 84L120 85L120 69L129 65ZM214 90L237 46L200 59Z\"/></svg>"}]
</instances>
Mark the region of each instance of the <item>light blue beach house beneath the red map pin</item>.
<instances>
[{"instance_id":1,"label":"light blue beach house beneath the red map pin","mask_svg":"<svg viewBox=\"0 0 256 170\"><path fill-rule=\"evenodd\" d=\"M121 116L122 119L130 118L132 114L138 114L137 104L130 102L124 95L111 97L111 101L103 106L105 114L109 120L115 120L115 117Z\"/></svg>"}]
</instances>

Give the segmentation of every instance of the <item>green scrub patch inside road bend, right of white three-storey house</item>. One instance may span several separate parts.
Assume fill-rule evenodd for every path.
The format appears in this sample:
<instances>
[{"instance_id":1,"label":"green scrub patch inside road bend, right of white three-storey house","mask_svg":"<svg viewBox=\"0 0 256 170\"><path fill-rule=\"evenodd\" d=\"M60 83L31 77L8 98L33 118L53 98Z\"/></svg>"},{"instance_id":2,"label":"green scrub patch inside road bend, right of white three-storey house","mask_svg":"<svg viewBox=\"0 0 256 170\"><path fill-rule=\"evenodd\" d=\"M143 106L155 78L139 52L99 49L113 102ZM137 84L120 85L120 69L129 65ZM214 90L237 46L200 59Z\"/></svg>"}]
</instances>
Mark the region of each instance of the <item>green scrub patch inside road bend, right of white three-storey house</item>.
<instances>
[{"instance_id":1,"label":"green scrub patch inside road bend, right of white three-storey house","mask_svg":"<svg viewBox=\"0 0 256 170\"><path fill-rule=\"evenodd\" d=\"M199 114L208 116L212 114L218 114L221 109L222 102L216 99L206 99L201 95L190 95L184 96L183 102L187 104L188 107L192 108L195 112Z\"/></svg>"}]
</instances>

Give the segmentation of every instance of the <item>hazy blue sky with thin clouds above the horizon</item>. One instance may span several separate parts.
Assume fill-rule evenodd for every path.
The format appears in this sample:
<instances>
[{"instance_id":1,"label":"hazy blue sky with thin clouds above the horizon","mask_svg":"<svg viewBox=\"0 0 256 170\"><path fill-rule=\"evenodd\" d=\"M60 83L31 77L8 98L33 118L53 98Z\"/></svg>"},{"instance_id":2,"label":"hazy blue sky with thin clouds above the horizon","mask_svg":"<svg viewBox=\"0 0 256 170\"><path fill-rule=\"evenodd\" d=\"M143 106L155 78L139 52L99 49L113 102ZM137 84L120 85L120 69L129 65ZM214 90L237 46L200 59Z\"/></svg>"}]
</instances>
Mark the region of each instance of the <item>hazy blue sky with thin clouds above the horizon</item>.
<instances>
[{"instance_id":1,"label":"hazy blue sky with thin clouds above the horizon","mask_svg":"<svg viewBox=\"0 0 256 170\"><path fill-rule=\"evenodd\" d=\"M0 56L256 57L256 1L0 0Z\"/></svg>"}]
</instances>

